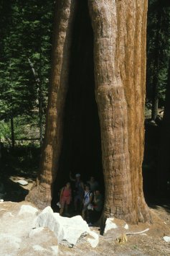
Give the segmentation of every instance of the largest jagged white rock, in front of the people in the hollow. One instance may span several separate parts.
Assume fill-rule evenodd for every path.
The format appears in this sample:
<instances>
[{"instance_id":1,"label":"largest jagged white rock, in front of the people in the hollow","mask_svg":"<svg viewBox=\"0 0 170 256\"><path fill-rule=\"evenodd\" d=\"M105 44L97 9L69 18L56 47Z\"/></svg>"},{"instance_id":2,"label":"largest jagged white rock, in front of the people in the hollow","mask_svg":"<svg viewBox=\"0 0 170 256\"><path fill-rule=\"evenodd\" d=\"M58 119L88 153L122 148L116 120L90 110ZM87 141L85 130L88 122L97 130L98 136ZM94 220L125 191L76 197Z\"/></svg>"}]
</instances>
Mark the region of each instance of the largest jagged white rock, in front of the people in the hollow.
<instances>
[{"instance_id":1,"label":"largest jagged white rock, in front of the people in the hollow","mask_svg":"<svg viewBox=\"0 0 170 256\"><path fill-rule=\"evenodd\" d=\"M80 237L90 232L88 224L81 216L62 217L59 213L53 213L49 206L39 213L35 226L48 227L54 231L59 243L64 242L71 247L77 243Z\"/></svg>"}]
</instances>

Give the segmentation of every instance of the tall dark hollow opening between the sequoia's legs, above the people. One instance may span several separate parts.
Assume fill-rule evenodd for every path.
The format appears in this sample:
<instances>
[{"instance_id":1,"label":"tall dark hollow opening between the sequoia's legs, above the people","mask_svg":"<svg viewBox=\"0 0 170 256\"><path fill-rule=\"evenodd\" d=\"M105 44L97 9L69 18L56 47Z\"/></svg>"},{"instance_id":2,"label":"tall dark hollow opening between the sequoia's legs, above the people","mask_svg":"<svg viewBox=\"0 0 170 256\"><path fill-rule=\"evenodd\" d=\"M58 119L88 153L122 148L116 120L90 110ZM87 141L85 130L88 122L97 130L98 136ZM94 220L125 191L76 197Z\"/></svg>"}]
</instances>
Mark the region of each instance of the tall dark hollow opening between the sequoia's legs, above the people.
<instances>
[{"instance_id":1,"label":"tall dark hollow opening between the sequoia's legs, above the people","mask_svg":"<svg viewBox=\"0 0 170 256\"><path fill-rule=\"evenodd\" d=\"M104 193L100 123L95 101L93 29L88 1L79 1L75 17L62 151L53 190L53 206L60 188L70 181L70 172L72 177L80 173L83 182L94 176Z\"/></svg>"}]
</instances>

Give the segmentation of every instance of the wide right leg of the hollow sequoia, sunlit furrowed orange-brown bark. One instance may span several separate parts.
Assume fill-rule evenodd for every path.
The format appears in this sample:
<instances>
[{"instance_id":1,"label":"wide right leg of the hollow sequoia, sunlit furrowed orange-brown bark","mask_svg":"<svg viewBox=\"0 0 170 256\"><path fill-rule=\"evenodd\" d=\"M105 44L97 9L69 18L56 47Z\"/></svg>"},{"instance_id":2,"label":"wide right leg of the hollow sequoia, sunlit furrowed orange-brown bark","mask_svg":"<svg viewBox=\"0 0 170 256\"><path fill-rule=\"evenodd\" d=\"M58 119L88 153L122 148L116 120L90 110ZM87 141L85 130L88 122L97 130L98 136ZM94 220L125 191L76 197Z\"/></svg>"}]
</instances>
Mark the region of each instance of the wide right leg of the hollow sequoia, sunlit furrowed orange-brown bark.
<instances>
[{"instance_id":1,"label":"wide right leg of the hollow sequoia, sunlit furrowed orange-brown bark","mask_svg":"<svg viewBox=\"0 0 170 256\"><path fill-rule=\"evenodd\" d=\"M146 0L89 0L100 118L103 219L151 221L143 197Z\"/></svg>"}]
</instances>

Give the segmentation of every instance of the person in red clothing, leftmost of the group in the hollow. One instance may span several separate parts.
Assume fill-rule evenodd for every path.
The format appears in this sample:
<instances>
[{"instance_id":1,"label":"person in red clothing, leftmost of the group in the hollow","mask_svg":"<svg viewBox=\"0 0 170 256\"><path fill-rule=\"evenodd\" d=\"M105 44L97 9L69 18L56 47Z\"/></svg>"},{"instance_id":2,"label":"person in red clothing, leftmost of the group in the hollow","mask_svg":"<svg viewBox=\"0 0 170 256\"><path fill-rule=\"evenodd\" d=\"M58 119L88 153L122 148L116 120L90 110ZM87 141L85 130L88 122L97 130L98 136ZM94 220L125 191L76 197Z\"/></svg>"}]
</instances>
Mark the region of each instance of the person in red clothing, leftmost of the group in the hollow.
<instances>
[{"instance_id":1,"label":"person in red clothing, leftmost of the group in the hollow","mask_svg":"<svg viewBox=\"0 0 170 256\"><path fill-rule=\"evenodd\" d=\"M62 187L61 193L60 193L60 215L62 215L64 209L65 213L67 214L68 206L70 205L70 202L72 200L72 190L70 186L70 182L67 182L65 187Z\"/></svg>"}]
</instances>

